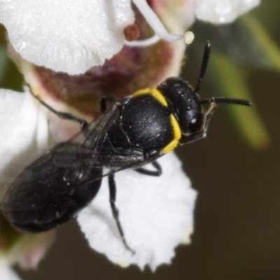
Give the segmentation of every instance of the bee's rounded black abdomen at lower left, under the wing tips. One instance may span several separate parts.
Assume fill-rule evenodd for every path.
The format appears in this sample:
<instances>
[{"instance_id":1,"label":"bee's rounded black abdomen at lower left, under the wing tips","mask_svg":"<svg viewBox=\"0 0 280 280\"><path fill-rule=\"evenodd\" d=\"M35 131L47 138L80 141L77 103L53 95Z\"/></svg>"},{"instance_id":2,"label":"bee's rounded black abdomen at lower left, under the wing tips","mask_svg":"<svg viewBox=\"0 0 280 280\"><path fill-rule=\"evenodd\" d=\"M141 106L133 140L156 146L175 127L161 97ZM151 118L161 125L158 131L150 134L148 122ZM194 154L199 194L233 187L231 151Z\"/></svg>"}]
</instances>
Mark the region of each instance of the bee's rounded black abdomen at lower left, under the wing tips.
<instances>
[{"instance_id":1,"label":"bee's rounded black abdomen at lower left, under the wing tips","mask_svg":"<svg viewBox=\"0 0 280 280\"><path fill-rule=\"evenodd\" d=\"M41 155L8 188L3 215L25 232L42 232L69 221L92 201L102 182L102 169L87 167L79 157L86 152L65 142Z\"/></svg>"}]
</instances>

